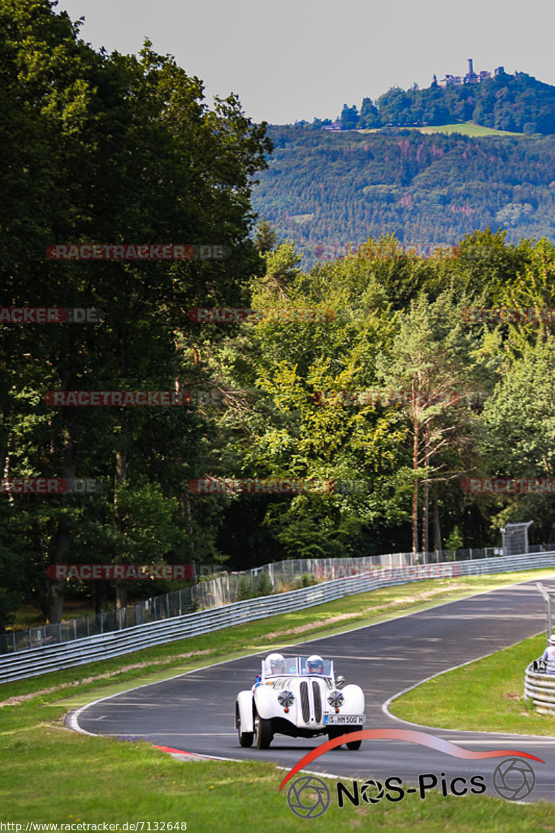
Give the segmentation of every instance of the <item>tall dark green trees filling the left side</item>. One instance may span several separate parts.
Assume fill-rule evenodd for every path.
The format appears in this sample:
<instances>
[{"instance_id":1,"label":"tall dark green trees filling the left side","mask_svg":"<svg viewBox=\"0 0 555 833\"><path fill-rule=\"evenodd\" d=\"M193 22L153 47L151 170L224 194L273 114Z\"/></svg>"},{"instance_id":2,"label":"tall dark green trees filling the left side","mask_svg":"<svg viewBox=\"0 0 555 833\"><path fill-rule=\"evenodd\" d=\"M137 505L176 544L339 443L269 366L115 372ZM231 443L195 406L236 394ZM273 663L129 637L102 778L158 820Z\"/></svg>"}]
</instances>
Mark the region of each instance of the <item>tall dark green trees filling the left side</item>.
<instances>
[{"instance_id":1,"label":"tall dark green trees filling the left side","mask_svg":"<svg viewBox=\"0 0 555 833\"><path fill-rule=\"evenodd\" d=\"M44 396L181 385L189 372L185 355L198 339L187 309L235 301L260 271L249 239L250 192L270 151L265 126L253 125L235 96L217 99L210 110L201 81L153 52L150 42L138 57L107 56L78 38L79 25L49 0L0 4L0 127L7 138L0 302L106 312L96 327L1 325L4 475L100 476L107 484L105 496L88 502L52 497L28 508L28 498L14 498L17 511L27 507L35 516L33 572L42 576L32 586L42 601L47 587L51 621L62 616L65 582L47 581L47 564L77 561L87 551L82 530L102 543L107 561L124 559L132 539L124 495L146 500L146 482L151 495L156 484L161 488L163 500L152 511L162 525L169 501L172 525L191 536L204 527L206 551L214 548L216 527L208 527L207 540L206 523L195 516L204 507L191 506L186 494L206 430L201 414L54 408ZM47 246L57 242L223 244L232 257L47 261ZM188 337L178 336L182 327ZM198 341L212 336L207 331ZM125 603L119 585L116 596Z\"/></svg>"}]
</instances>

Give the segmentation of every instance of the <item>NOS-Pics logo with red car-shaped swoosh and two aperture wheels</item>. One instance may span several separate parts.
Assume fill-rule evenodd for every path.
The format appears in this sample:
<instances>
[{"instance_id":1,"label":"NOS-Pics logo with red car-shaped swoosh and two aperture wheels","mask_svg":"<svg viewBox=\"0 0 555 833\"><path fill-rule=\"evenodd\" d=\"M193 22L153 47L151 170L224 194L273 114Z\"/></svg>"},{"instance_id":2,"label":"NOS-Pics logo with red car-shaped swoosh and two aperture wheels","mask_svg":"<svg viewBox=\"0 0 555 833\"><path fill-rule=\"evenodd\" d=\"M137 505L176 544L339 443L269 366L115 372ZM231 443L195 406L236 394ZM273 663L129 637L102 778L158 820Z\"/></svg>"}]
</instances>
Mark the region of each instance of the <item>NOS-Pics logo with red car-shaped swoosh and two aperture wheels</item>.
<instances>
[{"instance_id":1,"label":"NOS-Pics logo with red car-shaped swoosh and two aperture wheels","mask_svg":"<svg viewBox=\"0 0 555 833\"><path fill-rule=\"evenodd\" d=\"M395 740L411 741L412 743L419 743L422 746L429 746L438 751L446 752L448 755L463 758L466 760L480 760L484 758L498 758L504 757L504 761L496 766L493 771L492 783L493 789L508 801L522 801L527 798L533 791L536 785L536 776L533 767L528 763L527 758L532 758L534 761L544 763L540 758L529 755L527 752L517 752L513 750L496 750L489 752L473 752L463 749L461 746L456 746L449 741L444 741L434 735L428 735L425 732L404 730L404 729L369 729L362 730L349 735L349 740L353 740L353 735L356 734L361 739L362 737L369 738L394 738ZM315 750L311 751L304 758L296 764L293 769L285 776L284 781L280 786L283 789L287 781L300 771L302 767L314 761L315 758L323 755L334 746L340 746L346 740L346 736L334 738L333 741L326 741ZM384 781L377 781L369 779L359 784L359 781L352 781L349 786L345 785L343 781L337 781L335 790L337 794L337 803L339 808L343 808L346 804L360 806L361 801L366 804L378 804L379 801L385 800L390 802L402 801L409 793L418 793L420 799L425 799L429 790L439 787L441 795L447 798L449 794L453 796L464 796L469 793L480 795L486 791L485 776L476 775L469 778L457 776L450 780L445 778L445 773L442 772L440 776L434 773L425 773L418 776L418 787L403 786L403 779L398 776L389 776ZM316 776L300 776L289 786L287 791L287 803L290 810L295 813L295 816L303 819L316 819L322 816L327 811L331 802L330 787L325 781Z\"/></svg>"}]
</instances>

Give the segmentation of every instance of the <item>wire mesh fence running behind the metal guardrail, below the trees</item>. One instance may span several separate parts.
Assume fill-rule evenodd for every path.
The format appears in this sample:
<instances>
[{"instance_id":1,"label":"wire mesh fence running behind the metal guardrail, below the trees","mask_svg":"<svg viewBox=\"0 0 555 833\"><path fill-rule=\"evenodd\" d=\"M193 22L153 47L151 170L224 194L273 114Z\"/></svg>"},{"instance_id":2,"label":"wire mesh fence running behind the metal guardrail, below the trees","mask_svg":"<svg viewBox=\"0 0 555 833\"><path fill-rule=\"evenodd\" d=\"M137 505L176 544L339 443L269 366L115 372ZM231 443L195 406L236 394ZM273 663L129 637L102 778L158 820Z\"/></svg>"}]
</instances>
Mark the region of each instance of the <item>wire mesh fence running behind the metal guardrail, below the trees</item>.
<instances>
[{"instance_id":1,"label":"wire mesh fence running behind the metal guardrail, below the trees","mask_svg":"<svg viewBox=\"0 0 555 833\"><path fill-rule=\"evenodd\" d=\"M548 546L531 544L530 553L548 551ZM148 622L171 619L195 611L233 604L270 593L280 593L309 586L334 578L357 576L376 567L439 564L445 561L472 561L503 556L501 547L473 547L459 550L436 550L428 553L395 552L381 556L359 558L292 558L274 561L250 570L225 572L210 581L181 590L152 596L119 610L82 616L52 625L41 625L22 631L7 631L0 635L0 654L26 651L29 648L57 645L82 639L85 636L144 625Z\"/></svg>"}]
</instances>

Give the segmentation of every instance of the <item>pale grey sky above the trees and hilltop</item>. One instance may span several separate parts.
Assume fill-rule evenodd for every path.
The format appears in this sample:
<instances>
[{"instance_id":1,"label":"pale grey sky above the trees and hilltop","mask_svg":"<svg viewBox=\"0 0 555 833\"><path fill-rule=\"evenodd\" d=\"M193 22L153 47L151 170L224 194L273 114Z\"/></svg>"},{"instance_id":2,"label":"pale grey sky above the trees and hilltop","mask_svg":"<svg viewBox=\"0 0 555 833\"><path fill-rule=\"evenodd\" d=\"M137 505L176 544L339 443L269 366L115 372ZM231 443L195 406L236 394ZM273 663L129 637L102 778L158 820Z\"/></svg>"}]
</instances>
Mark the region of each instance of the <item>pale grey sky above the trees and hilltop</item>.
<instances>
[{"instance_id":1,"label":"pale grey sky above the trees and hilltop","mask_svg":"<svg viewBox=\"0 0 555 833\"><path fill-rule=\"evenodd\" d=\"M60 0L82 37L137 52L150 37L206 95L238 93L255 122L339 115L434 72L503 65L555 84L553 0Z\"/></svg>"}]
</instances>

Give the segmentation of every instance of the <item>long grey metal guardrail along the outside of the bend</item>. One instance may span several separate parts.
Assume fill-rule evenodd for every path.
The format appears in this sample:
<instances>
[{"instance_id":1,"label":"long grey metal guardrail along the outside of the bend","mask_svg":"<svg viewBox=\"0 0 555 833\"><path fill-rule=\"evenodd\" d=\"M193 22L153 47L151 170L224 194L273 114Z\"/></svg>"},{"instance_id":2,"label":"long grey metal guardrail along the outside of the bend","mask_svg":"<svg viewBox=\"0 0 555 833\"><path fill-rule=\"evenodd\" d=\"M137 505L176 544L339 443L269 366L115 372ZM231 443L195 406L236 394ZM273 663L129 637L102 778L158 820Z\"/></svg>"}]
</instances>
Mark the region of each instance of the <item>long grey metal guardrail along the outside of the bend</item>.
<instances>
[{"instance_id":1,"label":"long grey metal guardrail along the outside of the bend","mask_svg":"<svg viewBox=\"0 0 555 833\"><path fill-rule=\"evenodd\" d=\"M132 651L140 651L141 648L163 645L166 642L186 639L188 636L198 636L231 625L263 619L265 616L302 610L354 593L378 590L380 587L408 584L411 581L424 581L429 578L479 576L485 573L549 566L555 566L555 551L370 570L360 576L324 581L300 590L235 601L233 604L209 611L173 616L170 619L147 622L144 625L88 636L60 645L29 648L27 651L3 655L0 656L0 683L129 654Z\"/></svg>"}]
</instances>

